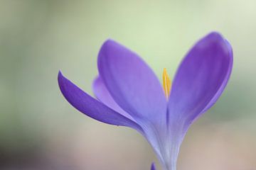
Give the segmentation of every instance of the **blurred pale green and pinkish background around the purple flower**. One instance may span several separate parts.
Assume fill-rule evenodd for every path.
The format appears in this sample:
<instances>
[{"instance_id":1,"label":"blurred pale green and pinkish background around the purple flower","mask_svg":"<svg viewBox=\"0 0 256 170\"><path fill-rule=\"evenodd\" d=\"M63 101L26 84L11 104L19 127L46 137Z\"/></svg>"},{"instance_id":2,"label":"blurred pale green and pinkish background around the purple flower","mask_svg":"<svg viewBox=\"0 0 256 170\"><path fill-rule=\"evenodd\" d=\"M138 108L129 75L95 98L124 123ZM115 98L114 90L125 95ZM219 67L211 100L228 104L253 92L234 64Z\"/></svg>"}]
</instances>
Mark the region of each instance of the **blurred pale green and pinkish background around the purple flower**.
<instances>
[{"instance_id":1,"label":"blurred pale green and pinkish background around the purple flower","mask_svg":"<svg viewBox=\"0 0 256 170\"><path fill-rule=\"evenodd\" d=\"M256 169L256 1L0 1L0 169L142 170L157 159L135 130L99 123L60 94L58 70L92 94L107 38L174 77L212 30L234 50L233 74L188 131L178 169ZM157 163L158 169L160 169Z\"/></svg>"}]
</instances>

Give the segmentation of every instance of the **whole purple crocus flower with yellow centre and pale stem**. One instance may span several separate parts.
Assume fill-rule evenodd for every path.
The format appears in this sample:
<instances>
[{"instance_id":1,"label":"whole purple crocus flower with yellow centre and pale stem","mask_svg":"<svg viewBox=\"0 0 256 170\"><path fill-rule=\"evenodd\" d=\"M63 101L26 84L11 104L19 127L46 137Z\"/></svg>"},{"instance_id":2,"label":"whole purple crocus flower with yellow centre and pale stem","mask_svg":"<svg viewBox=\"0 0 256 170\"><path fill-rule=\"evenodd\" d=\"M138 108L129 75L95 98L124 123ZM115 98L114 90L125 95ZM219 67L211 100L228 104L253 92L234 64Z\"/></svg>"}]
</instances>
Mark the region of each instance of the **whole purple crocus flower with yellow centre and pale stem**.
<instances>
[{"instance_id":1,"label":"whole purple crocus flower with yellow centre and pale stem","mask_svg":"<svg viewBox=\"0 0 256 170\"><path fill-rule=\"evenodd\" d=\"M228 83L233 52L222 35L210 33L186 54L172 85L164 69L163 86L142 58L114 40L102 45L97 67L99 75L92 85L97 99L59 72L63 96L91 118L137 130L162 168L176 170L188 128L213 106Z\"/></svg>"}]
</instances>

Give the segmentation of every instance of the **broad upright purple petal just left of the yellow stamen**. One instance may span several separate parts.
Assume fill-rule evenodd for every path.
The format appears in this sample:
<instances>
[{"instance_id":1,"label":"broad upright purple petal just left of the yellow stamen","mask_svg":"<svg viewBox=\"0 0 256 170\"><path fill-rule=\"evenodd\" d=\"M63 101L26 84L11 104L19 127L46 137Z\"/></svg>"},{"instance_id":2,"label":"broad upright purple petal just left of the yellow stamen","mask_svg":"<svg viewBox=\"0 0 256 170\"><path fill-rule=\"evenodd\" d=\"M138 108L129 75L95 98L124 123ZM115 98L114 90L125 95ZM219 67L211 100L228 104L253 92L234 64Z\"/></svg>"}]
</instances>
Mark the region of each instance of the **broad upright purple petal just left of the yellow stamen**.
<instances>
[{"instance_id":1,"label":"broad upright purple petal just left of the yellow stamen","mask_svg":"<svg viewBox=\"0 0 256 170\"><path fill-rule=\"evenodd\" d=\"M107 40L98 56L98 69L114 101L133 118L159 120L165 116L166 98L161 84L134 52Z\"/></svg>"}]
</instances>

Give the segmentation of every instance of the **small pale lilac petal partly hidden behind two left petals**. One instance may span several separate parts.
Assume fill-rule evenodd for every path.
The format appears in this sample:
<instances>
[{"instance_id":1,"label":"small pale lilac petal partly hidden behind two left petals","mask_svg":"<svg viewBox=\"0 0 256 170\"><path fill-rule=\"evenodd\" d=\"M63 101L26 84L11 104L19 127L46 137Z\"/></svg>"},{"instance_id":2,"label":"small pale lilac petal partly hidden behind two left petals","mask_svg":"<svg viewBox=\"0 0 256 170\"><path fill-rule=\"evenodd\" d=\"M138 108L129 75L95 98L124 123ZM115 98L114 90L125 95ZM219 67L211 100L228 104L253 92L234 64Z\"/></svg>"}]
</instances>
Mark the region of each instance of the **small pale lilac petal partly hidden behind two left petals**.
<instances>
[{"instance_id":1,"label":"small pale lilac petal partly hidden behind two left petals","mask_svg":"<svg viewBox=\"0 0 256 170\"><path fill-rule=\"evenodd\" d=\"M112 98L110 92L107 90L104 82L100 77L97 77L92 84L92 90L96 96L96 98L104 103L106 106L112 108L114 111L124 115L125 117L134 120L131 115L129 115L126 111L124 111Z\"/></svg>"}]
</instances>

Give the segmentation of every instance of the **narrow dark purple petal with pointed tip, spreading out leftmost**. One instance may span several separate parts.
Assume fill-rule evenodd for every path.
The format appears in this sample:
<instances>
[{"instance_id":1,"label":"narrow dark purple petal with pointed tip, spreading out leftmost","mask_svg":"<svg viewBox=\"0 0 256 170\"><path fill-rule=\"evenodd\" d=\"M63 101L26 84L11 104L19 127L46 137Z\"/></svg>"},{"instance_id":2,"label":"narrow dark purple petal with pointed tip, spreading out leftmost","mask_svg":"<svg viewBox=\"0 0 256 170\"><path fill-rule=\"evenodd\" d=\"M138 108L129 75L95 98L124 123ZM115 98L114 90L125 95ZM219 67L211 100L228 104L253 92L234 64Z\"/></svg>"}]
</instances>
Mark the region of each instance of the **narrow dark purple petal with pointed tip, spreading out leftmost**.
<instances>
[{"instance_id":1,"label":"narrow dark purple petal with pointed tip, spreading out leftmost","mask_svg":"<svg viewBox=\"0 0 256 170\"><path fill-rule=\"evenodd\" d=\"M61 72L58 73L58 84L60 86L60 91L67 101L78 109L78 111L85 113L85 115L88 115L90 118L111 125L128 126L142 132L142 128L137 125L137 123L134 123L134 121L120 115L116 111L113 111L111 108L97 101L95 98L86 94L70 80L63 77Z\"/></svg>"}]
</instances>

